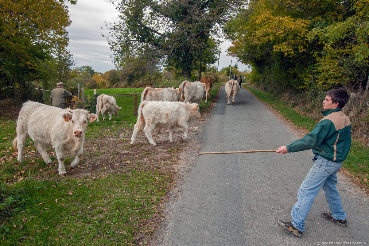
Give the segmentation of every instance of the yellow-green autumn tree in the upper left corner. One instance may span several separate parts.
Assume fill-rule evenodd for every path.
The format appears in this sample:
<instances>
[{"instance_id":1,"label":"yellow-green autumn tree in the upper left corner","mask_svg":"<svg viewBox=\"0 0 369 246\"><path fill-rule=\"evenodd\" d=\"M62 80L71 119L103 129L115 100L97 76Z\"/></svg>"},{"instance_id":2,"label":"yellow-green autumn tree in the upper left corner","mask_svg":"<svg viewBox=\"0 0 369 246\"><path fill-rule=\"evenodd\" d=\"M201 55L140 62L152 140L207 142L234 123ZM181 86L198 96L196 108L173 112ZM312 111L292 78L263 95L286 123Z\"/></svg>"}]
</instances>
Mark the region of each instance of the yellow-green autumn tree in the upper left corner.
<instances>
[{"instance_id":1,"label":"yellow-green autumn tree in the upper left corner","mask_svg":"<svg viewBox=\"0 0 369 246\"><path fill-rule=\"evenodd\" d=\"M29 84L46 77L56 47L68 45L68 7L65 1L1 0L0 4L1 88L18 87L26 97Z\"/></svg>"}]
</instances>

